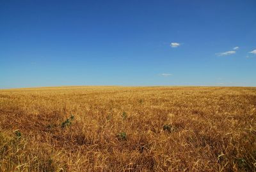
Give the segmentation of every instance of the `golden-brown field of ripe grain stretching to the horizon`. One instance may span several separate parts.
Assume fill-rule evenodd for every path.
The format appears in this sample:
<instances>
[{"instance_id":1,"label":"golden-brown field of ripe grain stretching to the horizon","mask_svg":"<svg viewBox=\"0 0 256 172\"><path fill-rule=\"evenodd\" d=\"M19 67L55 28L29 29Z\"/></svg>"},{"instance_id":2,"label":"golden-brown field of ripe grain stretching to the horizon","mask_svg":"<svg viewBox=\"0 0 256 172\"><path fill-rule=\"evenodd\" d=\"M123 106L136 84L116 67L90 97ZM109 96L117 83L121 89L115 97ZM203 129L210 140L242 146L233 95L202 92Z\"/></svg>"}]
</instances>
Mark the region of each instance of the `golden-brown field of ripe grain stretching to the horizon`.
<instances>
[{"instance_id":1,"label":"golden-brown field of ripe grain stretching to the horizon","mask_svg":"<svg viewBox=\"0 0 256 172\"><path fill-rule=\"evenodd\" d=\"M0 171L256 171L256 88L0 90Z\"/></svg>"}]
</instances>

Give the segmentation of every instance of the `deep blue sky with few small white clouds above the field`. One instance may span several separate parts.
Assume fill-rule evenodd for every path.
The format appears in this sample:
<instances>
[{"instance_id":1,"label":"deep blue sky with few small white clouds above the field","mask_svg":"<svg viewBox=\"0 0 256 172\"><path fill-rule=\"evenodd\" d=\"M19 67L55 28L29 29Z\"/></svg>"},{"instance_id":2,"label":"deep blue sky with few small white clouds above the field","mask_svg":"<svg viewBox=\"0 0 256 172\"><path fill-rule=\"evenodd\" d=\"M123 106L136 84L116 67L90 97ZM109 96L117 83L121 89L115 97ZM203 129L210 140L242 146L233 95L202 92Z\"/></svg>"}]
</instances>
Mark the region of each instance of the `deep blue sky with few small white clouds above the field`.
<instances>
[{"instance_id":1,"label":"deep blue sky with few small white clouds above the field","mask_svg":"<svg viewBox=\"0 0 256 172\"><path fill-rule=\"evenodd\" d=\"M256 86L256 1L0 1L0 88Z\"/></svg>"}]
</instances>

